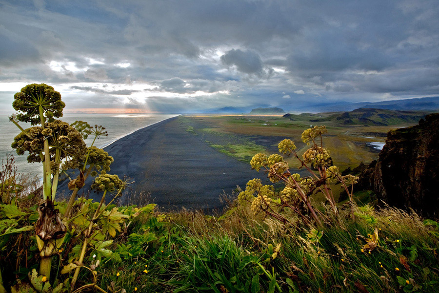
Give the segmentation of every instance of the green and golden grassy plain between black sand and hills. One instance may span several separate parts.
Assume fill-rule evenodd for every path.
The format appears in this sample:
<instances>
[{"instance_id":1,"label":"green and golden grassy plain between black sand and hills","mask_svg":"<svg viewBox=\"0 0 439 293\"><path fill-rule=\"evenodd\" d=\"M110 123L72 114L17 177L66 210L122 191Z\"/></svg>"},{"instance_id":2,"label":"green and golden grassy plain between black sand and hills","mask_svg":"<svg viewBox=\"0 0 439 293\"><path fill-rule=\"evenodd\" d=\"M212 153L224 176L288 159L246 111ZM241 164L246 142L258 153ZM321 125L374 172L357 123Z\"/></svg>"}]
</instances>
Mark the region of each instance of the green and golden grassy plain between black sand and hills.
<instances>
[{"instance_id":1,"label":"green and golden grassy plain between black sand and hills","mask_svg":"<svg viewBox=\"0 0 439 293\"><path fill-rule=\"evenodd\" d=\"M423 113L419 113L421 114ZM302 132L312 126L325 125L328 132L323 136L323 146L330 150L334 165L341 171L348 167L355 168L361 162L367 165L378 159L379 150L367 143L384 143L388 131L415 125L414 119L403 123L401 119L395 118L385 121L379 118L380 123L389 123L388 126L343 125L335 118L339 115L340 113L300 114L290 116L292 119L282 115L186 115L179 119L186 129L190 129L190 133L197 135L209 146L248 164L257 153L277 153L277 146L284 138L293 140L297 153L299 156L303 155L308 146L301 141ZM319 122L311 122L315 120ZM295 158L286 157L285 160L292 172L300 167ZM337 199L343 188L337 184L332 189ZM363 202L363 196L359 197ZM313 196L313 201L324 201L324 196L317 193Z\"/></svg>"}]
</instances>

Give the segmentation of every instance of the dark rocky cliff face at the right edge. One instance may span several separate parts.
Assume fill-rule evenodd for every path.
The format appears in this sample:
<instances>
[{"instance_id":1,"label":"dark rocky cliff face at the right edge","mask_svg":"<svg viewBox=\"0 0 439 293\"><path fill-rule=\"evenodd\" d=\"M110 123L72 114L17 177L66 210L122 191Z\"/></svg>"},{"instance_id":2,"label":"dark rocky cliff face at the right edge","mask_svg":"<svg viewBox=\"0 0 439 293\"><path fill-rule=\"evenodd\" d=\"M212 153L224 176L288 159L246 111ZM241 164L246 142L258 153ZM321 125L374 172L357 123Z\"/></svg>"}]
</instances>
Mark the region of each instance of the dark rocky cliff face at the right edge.
<instances>
[{"instance_id":1,"label":"dark rocky cliff face at the right edge","mask_svg":"<svg viewBox=\"0 0 439 293\"><path fill-rule=\"evenodd\" d=\"M378 200L438 217L439 114L426 116L417 126L389 131L375 167L371 164L363 175Z\"/></svg>"}]
</instances>

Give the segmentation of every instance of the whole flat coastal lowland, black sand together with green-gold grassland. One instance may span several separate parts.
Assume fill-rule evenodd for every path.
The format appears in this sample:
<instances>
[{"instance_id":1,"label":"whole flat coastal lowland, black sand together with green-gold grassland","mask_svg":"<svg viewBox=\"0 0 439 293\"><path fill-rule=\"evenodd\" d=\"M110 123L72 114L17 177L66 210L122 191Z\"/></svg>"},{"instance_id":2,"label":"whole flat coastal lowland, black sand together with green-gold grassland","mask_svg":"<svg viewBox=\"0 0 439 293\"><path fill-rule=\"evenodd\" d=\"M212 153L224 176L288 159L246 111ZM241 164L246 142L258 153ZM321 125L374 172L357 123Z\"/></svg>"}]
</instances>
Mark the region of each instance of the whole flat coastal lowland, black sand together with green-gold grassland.
<instances>
[{"instance_id":1,"label":"whole flat coastal lowland, black sand together with green-gold grassland","mask_svg":"<svg viewBox=\"0 0 439 293\"><path fill-rule=\"evenodd\" d=\"M344 170L377 159L379 149L370 143L383 144L390 129L413 125L345 126L330 119L310 123L315 115L296 115L299 119L295 116L294 120L280 115L185 115L170 118L105 147L105 151L114 157L109 173L120 178L126 175L135 181L122 196L122 202L136 204L141 193L150 193L152 202L162 209L184 207L210 211L224 205L220 195L232 195L237 186L245 188L250 179L260 178L269 184L266 174L251 169L251 158L259 152L267 155L278 152L277 145L284 138L296 143L300 156L308 148L300 136L310 126L327 126L323 146L330 149L334 165ZM318 117L325 119L321 115ZM291 172L309 175L298 169L297 160L285 159ZM91 179L82 190L89 190L90 185ZM275 187L281 188L280 185ZM68 193L66 182L60 184L59 190L63 189ZM335 194L339 190L340 187L334 187ZM89 196L100 200L99 194ZM319 194L314 198L316 202L322 199Z\"/></svg>"}]
</instances>

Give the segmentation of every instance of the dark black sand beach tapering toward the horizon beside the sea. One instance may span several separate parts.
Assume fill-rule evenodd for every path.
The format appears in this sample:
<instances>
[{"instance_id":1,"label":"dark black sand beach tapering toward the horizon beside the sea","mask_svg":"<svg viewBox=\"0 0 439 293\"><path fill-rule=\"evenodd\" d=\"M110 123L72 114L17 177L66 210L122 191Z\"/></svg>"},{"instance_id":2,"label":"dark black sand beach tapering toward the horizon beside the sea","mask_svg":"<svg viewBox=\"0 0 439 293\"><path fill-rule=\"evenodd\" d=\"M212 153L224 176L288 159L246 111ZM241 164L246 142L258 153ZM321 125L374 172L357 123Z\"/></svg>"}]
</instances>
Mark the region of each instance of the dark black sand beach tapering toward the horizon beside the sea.
<instances>
[{"instance_id":1,"label":"dark black sand beach tapering toward the horizon beside the sea","mask_svg":"<svg viewBox=\"0 0 439 293\"><path fill-rule=\"evenodd\" d=\"M186 131L178 117L142 128L104 149L114 157L109 173L135 181L122 201L133 192L151 192L160 208L211 210L222 207L220 194L230 195L237 185L245 188L253 178L268 182L262 171L252 170ZM88 190L90 184L89 179L80 191ZM66 185L60 184L59 190L66 190ZM100 200L96 193L90 197Z\"/></svg>"}]
</instances>

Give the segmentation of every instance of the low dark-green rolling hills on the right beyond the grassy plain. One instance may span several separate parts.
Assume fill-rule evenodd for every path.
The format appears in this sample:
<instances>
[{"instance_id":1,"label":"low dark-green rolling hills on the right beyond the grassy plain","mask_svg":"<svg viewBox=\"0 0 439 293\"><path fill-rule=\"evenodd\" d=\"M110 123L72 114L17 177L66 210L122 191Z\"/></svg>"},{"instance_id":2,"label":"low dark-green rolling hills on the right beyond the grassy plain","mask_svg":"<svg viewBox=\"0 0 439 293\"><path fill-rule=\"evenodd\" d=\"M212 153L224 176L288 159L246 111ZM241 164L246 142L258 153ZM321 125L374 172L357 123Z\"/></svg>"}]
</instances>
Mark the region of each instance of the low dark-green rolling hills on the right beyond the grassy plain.
<instances>
[{"instance_id":1,"label":"low dark-green rolling hills on the right beyond the grassy plain","mask_svg":"<svg viewBox=\"0 0 439 293\"><path fill-rule=\"evenodd\" d=\"M283 117L290 120L309 121L310 123L331 122L334 125L366 125L388 126L405 123L418 123L430 112L426 111L398 111L377 108L359 108L350 112L327 112L318 114L303 113L300 115L285 114Z\"/></svg>"}]
</instances>

